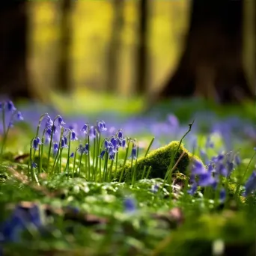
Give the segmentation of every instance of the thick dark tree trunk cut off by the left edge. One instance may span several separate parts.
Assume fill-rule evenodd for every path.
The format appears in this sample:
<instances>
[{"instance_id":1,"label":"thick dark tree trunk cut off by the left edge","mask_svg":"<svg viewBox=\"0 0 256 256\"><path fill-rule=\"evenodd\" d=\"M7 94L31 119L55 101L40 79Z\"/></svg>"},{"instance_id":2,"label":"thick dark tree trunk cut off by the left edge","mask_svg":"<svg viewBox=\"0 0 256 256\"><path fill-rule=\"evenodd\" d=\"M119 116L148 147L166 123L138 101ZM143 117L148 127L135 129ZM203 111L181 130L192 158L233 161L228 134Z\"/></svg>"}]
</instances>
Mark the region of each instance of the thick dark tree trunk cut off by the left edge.
<instances>
[{"instance_id":1,"label":"thick dark tree trunk cut off by the left edge","mask_svg":"<svg viewBox=\"0 0 256 256\"><path fill-rule=\"evenodd\" d=\"M27 70L27 1L0 4L0 94L30 98Z\"/></svg>"}]
</instances>

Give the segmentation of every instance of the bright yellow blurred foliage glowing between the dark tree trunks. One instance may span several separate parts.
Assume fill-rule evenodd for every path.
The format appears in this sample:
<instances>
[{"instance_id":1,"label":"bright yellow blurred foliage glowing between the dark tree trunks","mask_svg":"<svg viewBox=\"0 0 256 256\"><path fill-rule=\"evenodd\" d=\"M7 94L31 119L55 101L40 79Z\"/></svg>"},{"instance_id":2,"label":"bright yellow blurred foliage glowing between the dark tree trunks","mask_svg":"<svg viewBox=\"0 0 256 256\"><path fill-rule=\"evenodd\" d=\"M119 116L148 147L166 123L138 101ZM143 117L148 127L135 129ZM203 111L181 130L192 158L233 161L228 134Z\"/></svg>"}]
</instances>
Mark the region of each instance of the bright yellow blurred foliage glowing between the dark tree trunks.
<instances>
[{"instance_id":1,"label":"bright yellow blurred foliage glowing between the dark tree trunks","mask_svg":"<svg viewBox=\"0 0 256 256\"><path fill-rule=\"evenodd\" d=\"M61 1L28 1L29 15L29 70L33 85L43 88L55 85L58 67L58 43L61 35ZM189 25L189 2L150 1L150 16L147 43L150 58L150 84L153 88L162 85L182 52L182 38ZM108 76L109 43L112 23L115 19L113 1L72 1L70 29L71 80L74 88L103 88ZM122 22L120 49L118 50L118 92L130 95L133 81L133 63L136 56L131 54L138 46L138 1L124 1L121 10ZM51 56L51 61L49 61ZM166 58L168 56L168 58ZM37 72L40 70L40 72ZM76 103L79 104L79 103ZM86 104L87 108L88 104Z\"/></svg>"}]
</instances>

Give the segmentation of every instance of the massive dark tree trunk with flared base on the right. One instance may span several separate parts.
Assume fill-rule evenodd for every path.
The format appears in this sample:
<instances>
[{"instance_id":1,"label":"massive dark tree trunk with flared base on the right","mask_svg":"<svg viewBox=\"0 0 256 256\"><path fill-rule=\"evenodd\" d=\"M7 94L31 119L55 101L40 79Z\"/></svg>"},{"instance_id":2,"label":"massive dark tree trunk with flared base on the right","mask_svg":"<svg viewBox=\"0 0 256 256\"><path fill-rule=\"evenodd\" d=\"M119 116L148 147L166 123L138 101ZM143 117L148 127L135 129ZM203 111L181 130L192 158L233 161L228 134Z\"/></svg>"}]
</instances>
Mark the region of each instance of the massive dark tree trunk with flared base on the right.
<instances>
[{"instance_id":1,"label":"massive dark tree trunk with flared base on the right","mask_svg":"<svg viewBox=\"0 0 256 256\"><path fill-rule=\"evenodd\" d=\"M183 55L159 97L200 95L220 103L253 99L243 68L243 0L191 4Z\"/></svg>"}]
</instances>

